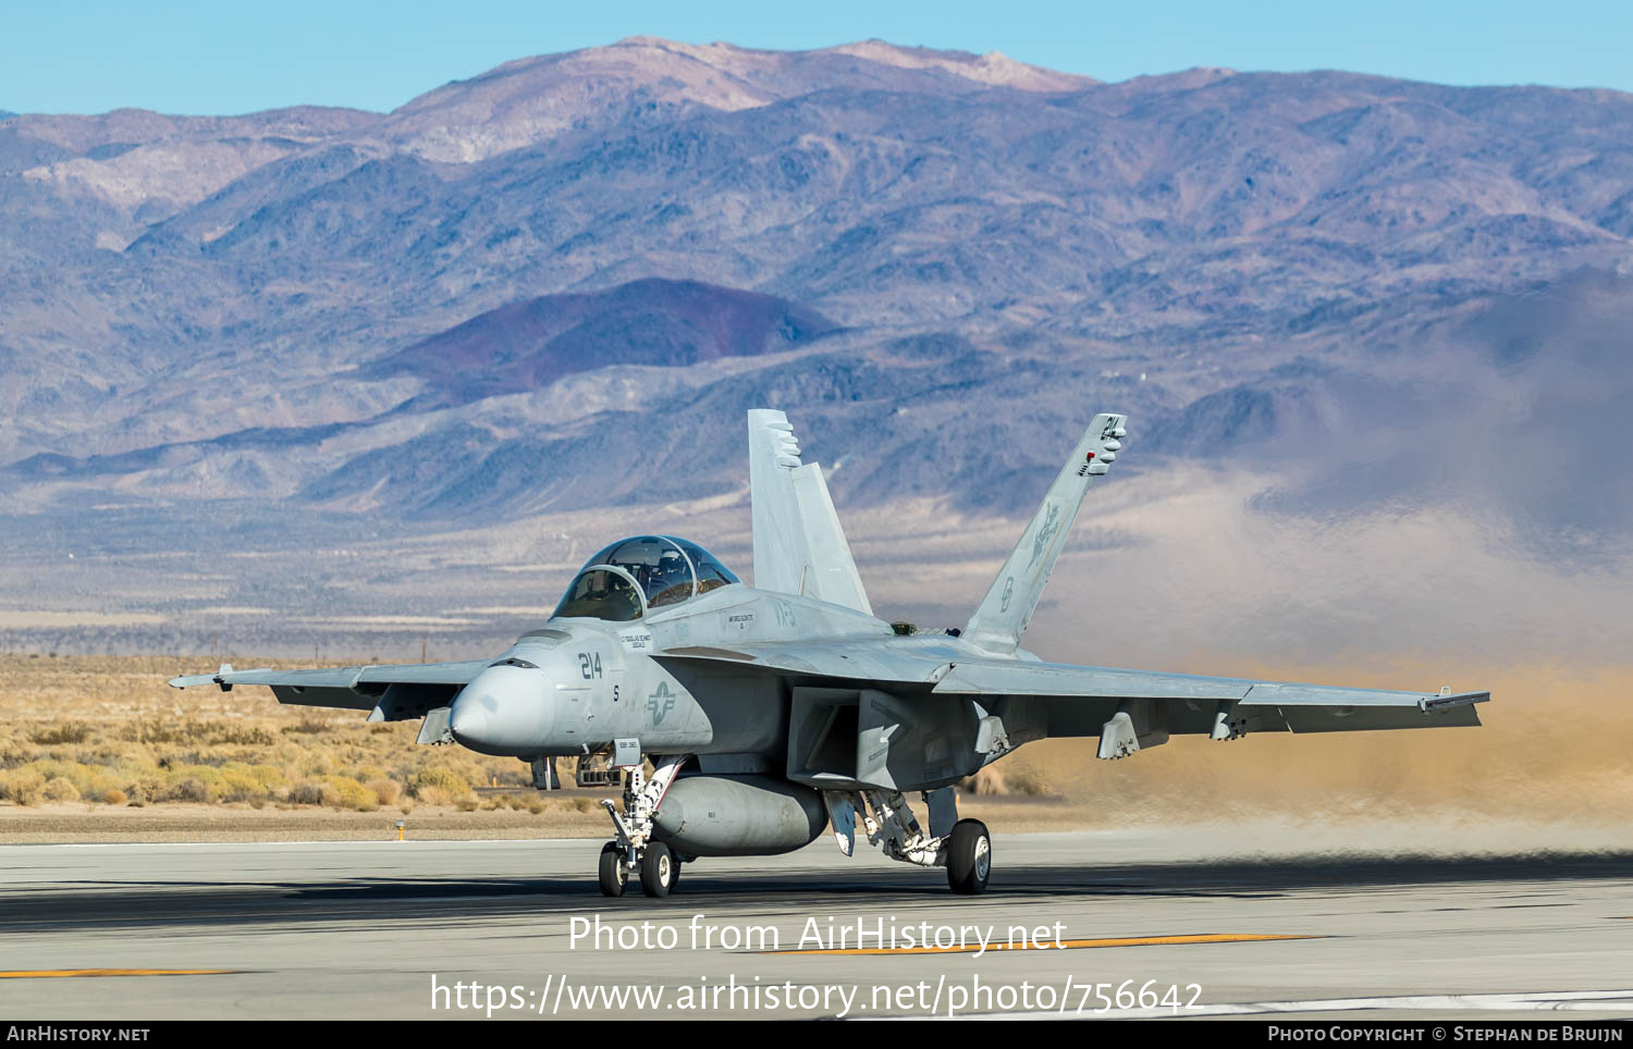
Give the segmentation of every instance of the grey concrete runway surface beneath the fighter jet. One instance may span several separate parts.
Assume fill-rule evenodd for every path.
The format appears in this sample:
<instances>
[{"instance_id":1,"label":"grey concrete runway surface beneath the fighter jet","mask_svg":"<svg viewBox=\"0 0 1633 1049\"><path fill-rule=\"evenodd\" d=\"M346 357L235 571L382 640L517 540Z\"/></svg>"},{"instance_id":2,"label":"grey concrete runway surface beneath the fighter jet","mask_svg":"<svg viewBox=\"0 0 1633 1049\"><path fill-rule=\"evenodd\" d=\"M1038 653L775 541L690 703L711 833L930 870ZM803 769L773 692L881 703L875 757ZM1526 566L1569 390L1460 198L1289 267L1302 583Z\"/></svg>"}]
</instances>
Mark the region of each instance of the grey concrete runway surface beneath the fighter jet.
<instances>
[{"instance_id":1,"label":"grey concrete runway surface beneath the fighter jet","mask_svg":"<svg viewBox=\"0 0 1633 1049\"><path fill-rule=\"evenodd\" d=\"M955 897L942 871L825 837L609 901L599 847L0 847L0 1011L1633 1016L1633 852L1195 858L1181 832L999 835L988 894ZM575 918L599 918L599 946ZM905 949L937 935L962 949Z\"/></svg>"}]
</instances>

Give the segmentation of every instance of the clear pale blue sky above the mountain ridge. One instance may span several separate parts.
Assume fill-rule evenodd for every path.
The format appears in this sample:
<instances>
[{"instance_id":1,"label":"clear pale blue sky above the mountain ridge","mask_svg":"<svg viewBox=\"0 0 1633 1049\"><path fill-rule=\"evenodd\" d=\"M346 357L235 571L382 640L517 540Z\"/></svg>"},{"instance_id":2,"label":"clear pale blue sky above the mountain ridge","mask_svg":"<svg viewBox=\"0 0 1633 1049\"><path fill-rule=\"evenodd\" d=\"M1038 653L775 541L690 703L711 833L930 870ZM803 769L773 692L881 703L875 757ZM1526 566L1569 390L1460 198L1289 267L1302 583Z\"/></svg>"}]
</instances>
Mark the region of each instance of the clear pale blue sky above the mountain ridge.
<instances>
[{"instance_id":1,"label":"clear pale blue sky above the mountain ridge","mask_svg":"<svg viewBox=\"0 0 1633 1049\"><path fill-rule=\"evenodd\" d=\"M1226 65L1633 90L1628 0L0 0L0 109L390 109L508 59L635 34L779 49L883 38L1101 80Z\"/></svg>"}]
</instances>

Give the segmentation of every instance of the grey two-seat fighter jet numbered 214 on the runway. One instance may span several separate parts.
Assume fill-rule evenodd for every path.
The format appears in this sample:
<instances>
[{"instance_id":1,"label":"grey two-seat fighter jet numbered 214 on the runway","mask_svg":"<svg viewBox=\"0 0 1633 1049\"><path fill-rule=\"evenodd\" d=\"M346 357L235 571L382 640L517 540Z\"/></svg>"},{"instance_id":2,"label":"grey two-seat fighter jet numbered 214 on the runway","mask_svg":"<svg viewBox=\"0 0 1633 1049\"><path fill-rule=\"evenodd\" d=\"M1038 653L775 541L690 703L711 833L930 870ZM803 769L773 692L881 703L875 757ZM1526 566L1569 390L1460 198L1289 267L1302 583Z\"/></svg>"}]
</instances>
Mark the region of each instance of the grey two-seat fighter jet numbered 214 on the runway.
<instances>
[{"instance_id":1,"label":"grey two-seat fighter jet numbered 214 on the runway","mask_svg":"<svg viewBox=\"0 0 1633 1049\"><path fill-rule=\"evenodd\" d=\"M1475 726L1489 692L1380 692L1043 662L1021 648L1089 485L1122 452L1127 418L1094 416L1021 542L960 628L874 615L821 467L781 411L748 413L754 586L697 543L619 540L580 569L537 630L496 659L234 671L170 684L268 685L283 703L421 718L420 742L459 742L580 777L624 770L599 883L639 876L668 896L701 856L792 852L861 829L893 860L944 866L981 892L991 839L959 819L954 785L1021 744L1099 737L1122 759L1172 734ZM650 760L652 772L645 772ZM919 793L921 821L906 794Z\"/></svg>"}]
</instances>

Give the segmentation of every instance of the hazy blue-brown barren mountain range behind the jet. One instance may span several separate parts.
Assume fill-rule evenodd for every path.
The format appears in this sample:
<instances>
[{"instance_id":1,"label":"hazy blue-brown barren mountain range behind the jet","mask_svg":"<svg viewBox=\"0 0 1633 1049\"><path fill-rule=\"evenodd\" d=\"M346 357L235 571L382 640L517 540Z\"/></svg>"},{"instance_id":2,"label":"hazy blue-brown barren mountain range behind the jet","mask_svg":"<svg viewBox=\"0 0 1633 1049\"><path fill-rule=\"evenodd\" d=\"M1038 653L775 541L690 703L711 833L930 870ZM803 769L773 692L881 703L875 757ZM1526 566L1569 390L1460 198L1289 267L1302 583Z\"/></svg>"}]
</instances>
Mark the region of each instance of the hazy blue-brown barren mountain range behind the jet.
<instances>
[{"instance_id":1,"label":"hazy blue-brown barren mountain range behind the jet","mask_svg":"<svg viewBox=\"0 0 1633 1049\"><path fill-rule=\"evenodd\" d=\"M1115 408L1132 470L1305 463L1272 499L1305 514L1462 489L1533 426L1553 494L1470 498L1579 551L1633 509L1595 452L1630 269L1602 90L632 38L392 113L5 114L3 520L720 496L758 405L841 506L1014 512Z\"/></svg>"}]
</instances>

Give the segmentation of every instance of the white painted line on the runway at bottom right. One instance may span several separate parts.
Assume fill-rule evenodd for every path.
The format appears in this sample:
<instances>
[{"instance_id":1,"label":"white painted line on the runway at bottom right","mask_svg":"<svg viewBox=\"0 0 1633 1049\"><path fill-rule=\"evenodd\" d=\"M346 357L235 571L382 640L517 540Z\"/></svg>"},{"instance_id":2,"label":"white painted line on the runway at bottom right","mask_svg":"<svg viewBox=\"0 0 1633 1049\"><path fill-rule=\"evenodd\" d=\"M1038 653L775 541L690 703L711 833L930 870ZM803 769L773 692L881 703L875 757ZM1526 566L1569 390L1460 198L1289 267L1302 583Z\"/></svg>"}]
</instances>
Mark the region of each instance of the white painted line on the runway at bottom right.
<instances>
[{"instance_id":1,"label":"white painted line on the runway at bottom right","mask_svg":"<svg viewBox=\"0 0 1633 1049\"><path fill-rule=\"evenodd\" d=\"M1308 998L1303 1002L1218 1002L1197 1008L1122 1008L1075 1013L1081 1020L1155 1020L1168 1016L1251 1016L1257 1013L1349 1013L1372 1008L1440 1011L1613 1011L1633 1016L1633 990L1540 990L1493 995L1404 995L1396 998ZM1060 1020L1060 1011L965 1013L959 1020ZM903 1020L906 1020L903 1016Z\"/></svg>"}]
</instances>

